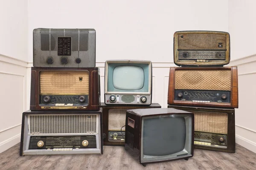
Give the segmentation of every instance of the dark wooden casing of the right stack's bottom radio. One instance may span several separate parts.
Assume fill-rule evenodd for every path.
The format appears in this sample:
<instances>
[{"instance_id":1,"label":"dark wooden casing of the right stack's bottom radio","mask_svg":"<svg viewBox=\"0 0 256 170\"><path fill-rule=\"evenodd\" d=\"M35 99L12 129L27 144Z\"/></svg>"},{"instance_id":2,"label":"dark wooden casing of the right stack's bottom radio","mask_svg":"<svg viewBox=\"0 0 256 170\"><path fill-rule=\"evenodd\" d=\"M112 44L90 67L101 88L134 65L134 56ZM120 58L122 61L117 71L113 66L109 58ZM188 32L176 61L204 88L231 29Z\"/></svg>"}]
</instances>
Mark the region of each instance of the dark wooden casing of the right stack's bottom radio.
<instances>
[{"instance_id":1,"label":"dark wooden casing of the right stack's bottom radio","mask_svg":"<svg viewBox=\"0 0 256 170\"><path fill-rule=\"evenodd\" d=\"M198 107L186 107L186 106L175 106L168 105L168 108L175 108L183 111L202 111L202 112L214 112L214 113L227 113L228 114L228 124L227 124L227 149L218 147L209 147L204 145L195 145L195 148L214 150L228 153L236 152L236 130L235 130L235 109L221 109L221 108L198 108Z\"/></svg>"}]
</instances>

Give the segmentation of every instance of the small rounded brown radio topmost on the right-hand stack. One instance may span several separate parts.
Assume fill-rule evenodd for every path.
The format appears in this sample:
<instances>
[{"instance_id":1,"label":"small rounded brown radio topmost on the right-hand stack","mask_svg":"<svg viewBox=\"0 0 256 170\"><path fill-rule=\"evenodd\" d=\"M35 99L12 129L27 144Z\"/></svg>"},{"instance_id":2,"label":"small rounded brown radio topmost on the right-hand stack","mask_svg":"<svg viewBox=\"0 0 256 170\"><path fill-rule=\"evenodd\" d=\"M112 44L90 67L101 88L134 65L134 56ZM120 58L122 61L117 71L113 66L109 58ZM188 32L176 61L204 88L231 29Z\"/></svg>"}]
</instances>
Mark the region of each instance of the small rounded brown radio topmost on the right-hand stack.
<instances>
[{"instance_id":1,"label":"small rounded brown radio topmost on the right-hand stack","mask_svg":"<svg viewBox=\"0 0 256 170\"><path fill-rule=\"evenodd\" d=\"M181 66L226 65L230 62L230 35L217 31L177 31L174 63Z\"/></svg>"}]
</instances>

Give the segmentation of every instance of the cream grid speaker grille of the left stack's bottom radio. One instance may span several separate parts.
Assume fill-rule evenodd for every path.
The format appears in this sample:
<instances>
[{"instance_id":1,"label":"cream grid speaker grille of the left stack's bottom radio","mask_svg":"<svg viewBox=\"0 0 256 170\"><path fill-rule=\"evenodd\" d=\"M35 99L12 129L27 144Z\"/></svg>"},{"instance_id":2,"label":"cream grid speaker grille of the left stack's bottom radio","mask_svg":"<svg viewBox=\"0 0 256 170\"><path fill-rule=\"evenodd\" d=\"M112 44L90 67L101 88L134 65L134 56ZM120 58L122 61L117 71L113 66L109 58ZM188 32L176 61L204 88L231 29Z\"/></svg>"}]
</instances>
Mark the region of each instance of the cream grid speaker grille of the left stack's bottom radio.
<instances>
[{"instance_id":1,"label":"cream grid speaker grille of the left stack's bottom radio","mask_svg":"<svg viewBox=\"0 0 256 170\"><path fill-rule=\"evenodd\" d=\"M29 115L30 134L97 134L98 115Z\"/></svg>"}]
</instances>

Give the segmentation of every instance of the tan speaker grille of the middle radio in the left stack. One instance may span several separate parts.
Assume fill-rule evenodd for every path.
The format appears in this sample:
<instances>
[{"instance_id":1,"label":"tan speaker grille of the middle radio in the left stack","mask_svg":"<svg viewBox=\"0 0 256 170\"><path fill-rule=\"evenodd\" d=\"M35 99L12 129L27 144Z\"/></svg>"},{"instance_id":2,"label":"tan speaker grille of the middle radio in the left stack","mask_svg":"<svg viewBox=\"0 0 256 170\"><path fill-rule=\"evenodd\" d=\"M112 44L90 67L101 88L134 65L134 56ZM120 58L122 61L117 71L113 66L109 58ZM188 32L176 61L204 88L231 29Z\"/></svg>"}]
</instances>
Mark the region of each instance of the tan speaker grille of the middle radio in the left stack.
<instances>
[{"instance_id":1,"label":"tan speaker grille of the middle radio in the left stack","mask_svg":"<svg viewBox=\"0 0 256 170\"><path fill-rule=\"evenodd\" d=\"M89 94L89 72L41 71L40 94Z\"/></svg>"}]
</instances>

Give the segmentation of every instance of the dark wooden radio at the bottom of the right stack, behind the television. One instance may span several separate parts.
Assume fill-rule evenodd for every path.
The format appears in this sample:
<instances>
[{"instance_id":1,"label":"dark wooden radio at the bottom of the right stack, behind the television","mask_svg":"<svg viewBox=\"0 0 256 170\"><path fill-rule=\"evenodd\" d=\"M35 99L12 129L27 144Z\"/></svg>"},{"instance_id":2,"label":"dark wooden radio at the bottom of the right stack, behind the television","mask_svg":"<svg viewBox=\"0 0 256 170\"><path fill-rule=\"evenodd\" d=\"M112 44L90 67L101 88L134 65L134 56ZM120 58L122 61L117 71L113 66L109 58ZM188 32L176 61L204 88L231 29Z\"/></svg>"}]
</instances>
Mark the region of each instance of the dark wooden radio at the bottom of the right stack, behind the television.
<instances>
[{"instance_id":1,"label":"dark wooden radio at the bottom of the right stack, behind the television","mask_svg":"<svg viewBox=\"0 0 256 170\"><path fill-rule=\"evenodd\" d=\"M236 152L235 109L196 108L168 105L195 115L195 148Z\"/></svg>"}]
</instances>

